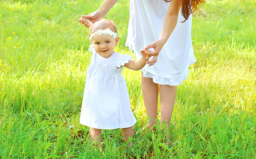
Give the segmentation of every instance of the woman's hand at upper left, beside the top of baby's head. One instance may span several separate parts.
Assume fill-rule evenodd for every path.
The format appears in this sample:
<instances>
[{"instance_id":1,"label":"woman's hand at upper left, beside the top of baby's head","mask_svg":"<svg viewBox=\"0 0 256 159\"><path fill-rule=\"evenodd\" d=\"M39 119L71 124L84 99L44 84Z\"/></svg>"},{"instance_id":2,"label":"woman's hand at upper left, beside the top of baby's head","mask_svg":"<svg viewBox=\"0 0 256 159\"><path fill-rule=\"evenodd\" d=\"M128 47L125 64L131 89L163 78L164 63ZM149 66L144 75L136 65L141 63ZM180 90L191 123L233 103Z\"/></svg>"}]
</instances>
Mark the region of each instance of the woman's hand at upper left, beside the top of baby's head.
<instances>
[{"instance_id":1,"label":"woman's hand at upper left, beside the top of baby's head","mask_svg":"<svg viewBox=\"0 0 256 159\"><path fill-rule=\"evenodd\" d=\"M84 19L89 19L92 23L95 23L96 21L99 21L104 17L103 13L100 12L99 10L96 10L95 12L91 12L90 14L87 15L82 15L80 19L78 20L79 23L84 24L87 28L89 27L89 24L87 22L84 22Z\"/></svg>"}]
</instances>

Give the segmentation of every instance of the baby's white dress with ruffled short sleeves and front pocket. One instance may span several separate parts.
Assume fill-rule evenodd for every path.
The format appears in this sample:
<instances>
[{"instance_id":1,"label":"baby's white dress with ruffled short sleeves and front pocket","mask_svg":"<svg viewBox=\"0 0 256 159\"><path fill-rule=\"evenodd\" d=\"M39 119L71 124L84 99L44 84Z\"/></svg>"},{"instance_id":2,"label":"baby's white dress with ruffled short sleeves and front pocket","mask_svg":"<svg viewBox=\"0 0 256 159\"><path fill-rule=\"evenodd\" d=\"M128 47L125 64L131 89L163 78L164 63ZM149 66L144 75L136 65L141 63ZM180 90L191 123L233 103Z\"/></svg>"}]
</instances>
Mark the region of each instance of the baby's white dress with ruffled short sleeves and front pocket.
<instances>
[{"instance_id":1,"label":"baby's white dress with ruffled short sleeves and front pocket","mask_svg":"<svg viewBox=\"0 0 256 159\"><path fill-rule=\"evenodd\" d=\"M127 85L122 76L124 64L133 57L115 52L107 59L98 55L91 46L90 51L92 58L87 68L80 124L96 129L133 126L136 119L131 112Z\"/></svg>"}]
</instances>

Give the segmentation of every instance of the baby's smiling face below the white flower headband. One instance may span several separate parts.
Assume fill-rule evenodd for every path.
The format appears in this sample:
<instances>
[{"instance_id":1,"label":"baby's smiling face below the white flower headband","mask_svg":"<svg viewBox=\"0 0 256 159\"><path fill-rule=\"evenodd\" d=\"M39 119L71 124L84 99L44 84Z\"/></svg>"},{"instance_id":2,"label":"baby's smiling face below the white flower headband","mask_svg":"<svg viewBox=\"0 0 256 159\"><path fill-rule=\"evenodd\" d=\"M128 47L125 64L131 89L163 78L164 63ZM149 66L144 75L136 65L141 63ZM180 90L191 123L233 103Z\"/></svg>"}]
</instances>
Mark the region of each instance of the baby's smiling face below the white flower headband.
<instances>
[{"instance_id":1,"label":"baby's smiling face below the white flower headband","mask_svg":"<svg viewBox=\"0 0 256 159\"><path fill-rule=\"evenodd\" d=\"M114 53L114 48L118 43L119 38L113 38L108 34L94 35L92 43L95 51L103 58L109 58Z\"/></svg>"}]
</instances>

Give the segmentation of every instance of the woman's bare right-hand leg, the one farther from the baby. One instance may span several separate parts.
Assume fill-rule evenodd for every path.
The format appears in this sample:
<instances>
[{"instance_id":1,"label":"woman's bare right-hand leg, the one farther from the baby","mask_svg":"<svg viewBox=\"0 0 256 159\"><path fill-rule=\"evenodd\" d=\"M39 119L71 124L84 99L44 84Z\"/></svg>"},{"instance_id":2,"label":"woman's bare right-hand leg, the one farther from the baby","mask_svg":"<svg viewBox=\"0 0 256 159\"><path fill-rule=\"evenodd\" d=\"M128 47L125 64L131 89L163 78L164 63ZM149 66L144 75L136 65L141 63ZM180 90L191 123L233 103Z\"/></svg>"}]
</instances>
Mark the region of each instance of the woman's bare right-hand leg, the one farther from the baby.
<instances>
[{"instance_id":1,"label":"woman's bare right-hand leg, the one farther from the baby","mask_svg":"<svg viewBox=\"0 0 256 159\"><path fill-rule=\"evenodd\" d=\"M169 127L172 112L175 104L177 94L177 86L169 86L160 84L160 104L161 104L161 120L166 122L166 126Z\"/></svg>"}]
</instances>

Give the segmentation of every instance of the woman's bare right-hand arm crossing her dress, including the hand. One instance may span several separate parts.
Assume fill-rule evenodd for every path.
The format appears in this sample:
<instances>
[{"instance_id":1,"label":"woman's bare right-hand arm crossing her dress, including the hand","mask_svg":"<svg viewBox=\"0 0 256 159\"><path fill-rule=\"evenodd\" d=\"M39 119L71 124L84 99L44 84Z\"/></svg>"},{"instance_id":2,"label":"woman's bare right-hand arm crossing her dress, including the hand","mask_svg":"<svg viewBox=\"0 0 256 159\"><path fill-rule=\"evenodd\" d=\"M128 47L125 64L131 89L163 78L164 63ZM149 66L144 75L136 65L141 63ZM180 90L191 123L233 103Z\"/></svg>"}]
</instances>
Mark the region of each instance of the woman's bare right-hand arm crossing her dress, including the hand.
<instances>
[{"instance_id":1,"label":"woman's bare right-hand arm crossing her dress, including the hand","mask_svg":"<svg viewBox=\"0 0 256 159\"><path fill-rule=\"evenodd\" d=\"M157 55L160 53L164 44L169 39L170 35L175 29L181 6L182 6L182 0L172 0L170 2L167 13L163 20L163 26L162 26L159 39L145 47L145 49L150 49L150 48L154 49L154 52L151 54L154 56L154 58L151 61L147 62L147 64L150 64L149 66L152 66L157 62Z\"/></svg>"}]
</instances>

